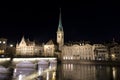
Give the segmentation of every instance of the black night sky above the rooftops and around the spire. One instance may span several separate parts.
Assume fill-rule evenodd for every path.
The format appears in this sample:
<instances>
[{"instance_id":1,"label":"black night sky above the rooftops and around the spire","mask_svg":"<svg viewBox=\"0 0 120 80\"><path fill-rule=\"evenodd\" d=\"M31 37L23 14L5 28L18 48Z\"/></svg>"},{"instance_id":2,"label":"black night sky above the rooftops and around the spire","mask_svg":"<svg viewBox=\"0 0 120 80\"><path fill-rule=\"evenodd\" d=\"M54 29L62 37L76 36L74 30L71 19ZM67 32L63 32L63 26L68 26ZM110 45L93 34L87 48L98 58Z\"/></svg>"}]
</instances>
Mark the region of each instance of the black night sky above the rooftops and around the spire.
<instances>
[{"instance_id":1,"label":"black night sky above the rooftops and around the spire","mask_svg":"<svg viewBox=\"0 0 120 80\"><path fill-rule=\"evenodd\" d=\"M34 4L35 5L35 4ZM38 4L36 4L38 5ZM19 41L24 35L30 40L56 40L59 7L65 42L120 41L120 6L112 1L43 2L32 8L0 8L0 37Z\"/></svg>"}]
</instances>

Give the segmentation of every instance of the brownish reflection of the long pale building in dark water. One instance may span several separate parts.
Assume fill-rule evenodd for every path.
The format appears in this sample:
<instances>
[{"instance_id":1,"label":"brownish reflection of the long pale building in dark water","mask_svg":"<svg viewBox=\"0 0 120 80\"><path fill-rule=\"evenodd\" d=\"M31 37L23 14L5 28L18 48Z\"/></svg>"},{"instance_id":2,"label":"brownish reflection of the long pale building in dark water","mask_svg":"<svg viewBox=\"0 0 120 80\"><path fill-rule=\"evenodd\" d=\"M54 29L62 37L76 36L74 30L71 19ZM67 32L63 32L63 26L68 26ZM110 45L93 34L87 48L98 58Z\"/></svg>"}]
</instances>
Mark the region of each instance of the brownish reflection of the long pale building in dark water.
<instances>
[{"instance_id":1,"label":"brownish reflection of the long pale building in dark water","mask_svg":"<svg viewBox=\"0 0 120 80\"><path fill-rule=\"evenodd\" d=\"M62 73L63 80L93 80L95 79L95 66L63 64Z\"/></svg>"}]
</instances>

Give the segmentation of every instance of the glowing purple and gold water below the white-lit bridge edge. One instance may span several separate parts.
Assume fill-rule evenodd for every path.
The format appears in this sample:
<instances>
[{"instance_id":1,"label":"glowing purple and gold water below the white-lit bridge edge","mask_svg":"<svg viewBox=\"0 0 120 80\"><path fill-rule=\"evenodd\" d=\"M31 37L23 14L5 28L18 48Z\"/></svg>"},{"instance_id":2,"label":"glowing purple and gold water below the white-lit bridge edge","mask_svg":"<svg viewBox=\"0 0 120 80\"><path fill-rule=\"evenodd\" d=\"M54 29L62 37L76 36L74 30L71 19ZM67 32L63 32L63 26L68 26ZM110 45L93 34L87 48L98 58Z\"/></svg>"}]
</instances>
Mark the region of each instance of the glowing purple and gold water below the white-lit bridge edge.
<instances>
[{"instance_id":1,"label":"glowing purple and gold water below the white-lit bridge edge","mask_svg":"<svg viewBox=\"0 0 120 80\"><path fill-rule=\"evenodd\" d=\"M56 69L56 60L40 60L35 63L25 60L8 68L0 64L0 80L56 80Z\"/></svg>"}]
</instances>

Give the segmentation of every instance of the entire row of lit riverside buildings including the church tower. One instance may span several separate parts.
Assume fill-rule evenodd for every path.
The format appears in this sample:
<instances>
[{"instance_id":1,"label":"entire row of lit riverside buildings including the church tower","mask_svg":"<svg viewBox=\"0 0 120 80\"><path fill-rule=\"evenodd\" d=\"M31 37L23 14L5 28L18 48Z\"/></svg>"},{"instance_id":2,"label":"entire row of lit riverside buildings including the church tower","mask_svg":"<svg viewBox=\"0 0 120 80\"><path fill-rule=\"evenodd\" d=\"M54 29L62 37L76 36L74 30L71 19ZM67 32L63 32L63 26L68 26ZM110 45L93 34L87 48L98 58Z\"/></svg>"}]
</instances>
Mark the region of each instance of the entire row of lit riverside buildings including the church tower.
<instances>
[{"instance_id":1,"label":"entire row of lit riverside buildings including the church tower","mask_svg":"<svg viewBox=\"0 0 120 80\"><path fill-rule=\"evenodd\" d=\"M89 42L72 42L64 44L61 10L56 32L56 41L49 40L46 44L37 44L22 37L15 46L15 55L21 56L55 56L61 60L120 60L120 45L90 44ZM5 52L7 39L0 38L0 54Z\"/></svg>"}]
</instances>

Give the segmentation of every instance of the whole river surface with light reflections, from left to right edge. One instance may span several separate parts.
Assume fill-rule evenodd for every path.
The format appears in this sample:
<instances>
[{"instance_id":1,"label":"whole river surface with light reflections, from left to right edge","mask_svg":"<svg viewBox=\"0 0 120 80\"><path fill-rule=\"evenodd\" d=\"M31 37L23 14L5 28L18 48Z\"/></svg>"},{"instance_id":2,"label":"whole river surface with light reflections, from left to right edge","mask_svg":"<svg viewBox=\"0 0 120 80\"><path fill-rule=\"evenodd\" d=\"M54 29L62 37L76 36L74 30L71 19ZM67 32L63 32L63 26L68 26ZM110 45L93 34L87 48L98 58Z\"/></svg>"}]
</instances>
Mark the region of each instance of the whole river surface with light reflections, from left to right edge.
<instances>
[{"instance_id":1,"label":"whole river surface with light reflections, from left to right edge","mask_svg":"<svg viewBox=\"0 0 120 80\"><path fill-rule=\"evenodd\" d=\"M40 61L37 64L20 62L18 64L14 67L11 80L120 80L120 68L117 66L85 64L57 66L54 61ZM0 66L0 80L10 80L10 73L9 68Z\"/></svg>"}]
</instances>

